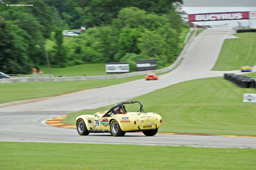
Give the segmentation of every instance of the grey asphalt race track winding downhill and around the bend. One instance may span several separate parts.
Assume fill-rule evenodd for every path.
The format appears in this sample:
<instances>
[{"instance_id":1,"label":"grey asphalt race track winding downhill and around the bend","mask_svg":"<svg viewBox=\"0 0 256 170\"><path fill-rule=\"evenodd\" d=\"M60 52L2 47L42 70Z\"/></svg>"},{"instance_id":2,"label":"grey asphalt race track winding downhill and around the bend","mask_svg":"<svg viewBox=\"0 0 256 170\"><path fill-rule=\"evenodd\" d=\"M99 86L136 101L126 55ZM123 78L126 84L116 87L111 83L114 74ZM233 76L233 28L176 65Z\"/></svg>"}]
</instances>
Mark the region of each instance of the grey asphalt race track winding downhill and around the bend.
<instances>
[{"instance_id":1,"label":"grey asphalt race track winding downhill and around the bend","mask_svg":"<svg viewBox=\"0 0 256 170\"><path fill-rule=\"evenodd\" d=\"M61 95L32 103L0 105L0 141L52 142L52 143L97 143L137 145L186 145L195 147L255 148L256 138L218 137L200 135L126 133L124 137L113 137L110 133L90 133L80 136L76 129L46 126L47 119L66 115L83 109L95 109L103 105L116 104L150 93L179 82L198 78L223 76L224 73L241 74L236 71L210 71L217 60L225 38L233 38L231 29L208 29L195 37L184 59L175 70L161 75L157 81L144 79L90 89L69 95ZM255 66L253 68L255 70ZM122 96L110 98L113 93ZM99 105L100 104L100 105ZM117 140L118 139L118 140Z\"/></svg>"}]
</instances>

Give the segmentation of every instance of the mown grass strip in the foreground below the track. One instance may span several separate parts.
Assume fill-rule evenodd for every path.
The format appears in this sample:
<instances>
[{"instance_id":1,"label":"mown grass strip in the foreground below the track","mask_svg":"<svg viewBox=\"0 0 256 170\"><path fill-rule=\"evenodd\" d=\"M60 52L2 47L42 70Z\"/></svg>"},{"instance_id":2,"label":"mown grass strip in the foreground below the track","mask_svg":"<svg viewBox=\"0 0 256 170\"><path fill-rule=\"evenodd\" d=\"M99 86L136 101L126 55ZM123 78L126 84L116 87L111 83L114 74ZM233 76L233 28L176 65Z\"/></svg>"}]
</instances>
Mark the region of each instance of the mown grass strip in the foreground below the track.
<instances>
[{"instance_id":1,"label":"mown grass strip in the foreground below the track","mask_svg":"<svg viewBox=\"0 0 256 170\"><path fill-rule=\"evenodd\" d=\"M0 142L0 154L2 170L141 167L148 170L254 170L256 167L256 150L238 148Z\"/></svg>"}]
</instances>

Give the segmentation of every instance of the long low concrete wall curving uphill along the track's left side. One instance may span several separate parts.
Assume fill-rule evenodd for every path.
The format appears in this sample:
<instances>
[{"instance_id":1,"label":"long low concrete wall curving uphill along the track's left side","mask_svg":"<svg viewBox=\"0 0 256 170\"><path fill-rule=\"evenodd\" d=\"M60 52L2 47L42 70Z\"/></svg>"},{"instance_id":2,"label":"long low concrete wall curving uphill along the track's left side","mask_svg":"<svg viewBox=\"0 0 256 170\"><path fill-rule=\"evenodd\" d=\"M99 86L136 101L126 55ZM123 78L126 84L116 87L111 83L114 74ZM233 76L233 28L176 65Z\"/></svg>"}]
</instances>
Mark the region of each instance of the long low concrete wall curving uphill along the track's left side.
<instances>
[{"instance_id":1,"label":"long low concrete wall curving uphill along the track's left side","mask_svg":"<svg viewBox=\"0 0 256 170\"><path fill-rule=\"evenodd\" d=\"M147 73L153 72L153 73L165 73L173 70L179 62L184 58L191 42L194 40L196 35L196 29L194 31L194 34L190 37L188 43L183 48L182 52L176 59L176 61L170 65L169 67L166 67L164 69L159 70L147 70L147 71L139 71L139 72L131 72L131 73L124 73L124 74L118 74L118 75L109 75L109 76L83 76L83 77L20 77L20 78L4 78L0 79L0 84L3 83L20 83L20 82L62 82L62 81L82 81L82 80L106 80L106 79L115 79L115 78L125 78L130 76L136 76L136 75L146 75Z\"/></svg>"}]
</instances>

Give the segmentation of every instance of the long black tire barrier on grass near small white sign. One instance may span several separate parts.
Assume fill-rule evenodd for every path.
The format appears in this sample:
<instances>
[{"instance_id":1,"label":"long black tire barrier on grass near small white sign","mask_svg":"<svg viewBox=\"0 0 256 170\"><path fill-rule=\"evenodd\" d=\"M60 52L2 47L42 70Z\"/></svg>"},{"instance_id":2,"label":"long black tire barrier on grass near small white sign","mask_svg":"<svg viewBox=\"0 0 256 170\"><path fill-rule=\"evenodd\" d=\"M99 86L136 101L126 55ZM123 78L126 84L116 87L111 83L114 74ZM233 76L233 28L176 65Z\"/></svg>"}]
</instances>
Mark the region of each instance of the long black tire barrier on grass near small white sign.
<instances>
[{"instance_id":1,"label":"long black tire barrier on grass near small white sign","mask_svg":"<svg viewBox=\"0 0 256 170\"><path fill-rule=\"evenodd\" d=\"M224 78L242 88L256 88L256 81L252 77L247 77L244 75L238 75L233 73L224 73Z\"/></svg>"}]
</instances>

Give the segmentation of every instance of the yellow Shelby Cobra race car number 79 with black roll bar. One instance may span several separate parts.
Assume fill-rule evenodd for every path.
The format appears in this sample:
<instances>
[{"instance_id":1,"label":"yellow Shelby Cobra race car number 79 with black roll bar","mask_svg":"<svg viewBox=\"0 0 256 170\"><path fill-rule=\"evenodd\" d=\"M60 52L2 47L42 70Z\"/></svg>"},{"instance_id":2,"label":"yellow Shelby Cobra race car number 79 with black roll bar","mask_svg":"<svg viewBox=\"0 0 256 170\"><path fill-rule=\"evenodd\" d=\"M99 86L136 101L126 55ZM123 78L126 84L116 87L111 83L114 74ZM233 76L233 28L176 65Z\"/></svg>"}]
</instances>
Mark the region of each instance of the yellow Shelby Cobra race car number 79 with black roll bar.
<instances>
[{"instance_id":1,"label":"yellow Shelby Cobra race car number 79 with black roll bar","mask_svg":"<svg viewBox=\"0 0 256 170\"><path fill-rule=\"evenodd\" d=\"M138 103L140 108L127 112L125 105L134 103ZM124 101L110 110L78 116L76 124L80 135L111 133L113 136L124 136L126 132L143 132L146 136L154 136L162 125L162 117L153 112L145 113L139 101Z\"/></svg>"}]
</instances>

